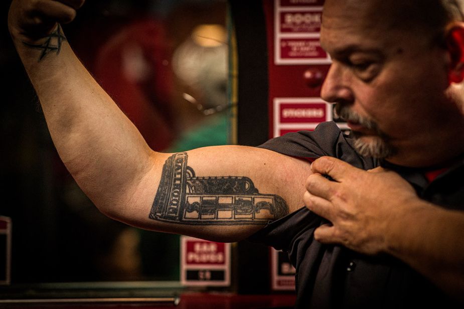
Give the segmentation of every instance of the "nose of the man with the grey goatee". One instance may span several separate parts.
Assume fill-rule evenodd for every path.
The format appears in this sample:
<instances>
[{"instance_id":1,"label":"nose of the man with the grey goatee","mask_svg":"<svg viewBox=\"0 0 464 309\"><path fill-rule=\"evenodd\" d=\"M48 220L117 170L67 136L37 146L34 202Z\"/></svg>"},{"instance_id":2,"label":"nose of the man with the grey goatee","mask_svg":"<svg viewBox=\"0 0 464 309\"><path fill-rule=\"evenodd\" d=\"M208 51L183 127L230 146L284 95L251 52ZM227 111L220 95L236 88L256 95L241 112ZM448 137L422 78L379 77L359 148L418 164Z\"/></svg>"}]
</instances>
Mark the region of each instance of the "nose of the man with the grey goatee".
<instances>
[{"instance_id":1,"label":"nose of the man with the grey goatee","mask_svg":"<svg viewBox=\"0 0 464 309\"><path fill-rule=\"evenodd\" d=\"M353 103L354 94L351 89L351 77L337 63L332 63L322 85L321 97L329 103Z\"/></svg>"}]
</instances>

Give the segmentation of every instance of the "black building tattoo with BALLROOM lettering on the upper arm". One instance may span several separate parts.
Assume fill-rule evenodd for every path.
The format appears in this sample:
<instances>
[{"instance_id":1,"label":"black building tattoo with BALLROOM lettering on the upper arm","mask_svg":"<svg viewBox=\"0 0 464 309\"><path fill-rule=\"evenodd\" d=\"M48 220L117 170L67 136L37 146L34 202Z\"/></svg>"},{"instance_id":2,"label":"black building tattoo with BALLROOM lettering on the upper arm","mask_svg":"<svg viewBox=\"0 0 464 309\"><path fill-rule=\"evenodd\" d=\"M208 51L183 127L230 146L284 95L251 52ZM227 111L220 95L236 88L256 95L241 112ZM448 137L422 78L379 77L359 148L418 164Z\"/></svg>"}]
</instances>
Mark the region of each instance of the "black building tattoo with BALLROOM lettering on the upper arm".
<instances>
[{"instance_id":1,"label":"black building tattoo with BALLROOM lettering on the upper arm","mask_svg":"<svg viewBox=\"0 0 464 309\"><path fill-rule=\"evenodd\" d=\"M266 224L288 214L277 195L261 194L248 177L197 177L187 153L166 160L149 218L192 225Z\"/></svg>"}]
</instances>

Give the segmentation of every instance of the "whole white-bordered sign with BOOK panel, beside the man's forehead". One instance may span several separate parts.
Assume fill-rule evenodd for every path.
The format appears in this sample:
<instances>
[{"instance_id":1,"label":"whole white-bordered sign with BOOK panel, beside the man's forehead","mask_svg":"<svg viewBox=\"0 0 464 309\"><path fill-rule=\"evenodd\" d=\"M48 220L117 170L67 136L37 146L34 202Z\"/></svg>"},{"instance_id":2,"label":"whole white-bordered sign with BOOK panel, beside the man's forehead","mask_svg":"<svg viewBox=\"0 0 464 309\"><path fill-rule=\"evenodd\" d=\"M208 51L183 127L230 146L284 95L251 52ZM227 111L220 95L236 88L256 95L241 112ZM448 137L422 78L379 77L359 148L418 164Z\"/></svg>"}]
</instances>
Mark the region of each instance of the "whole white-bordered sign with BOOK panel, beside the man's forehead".
<instances>
[{"instance_id":1,"label":"whole white-bordered sign with BOOK panel, beside the man's forehead","mask_svg":"<svg viewBox=\"0 0 464 309\"><path fill-rule=\"evenodd\" d=\"M330 64L322 49L322 0L274 0L274 54L277 65Z\"/></svg>"}]
</instances>

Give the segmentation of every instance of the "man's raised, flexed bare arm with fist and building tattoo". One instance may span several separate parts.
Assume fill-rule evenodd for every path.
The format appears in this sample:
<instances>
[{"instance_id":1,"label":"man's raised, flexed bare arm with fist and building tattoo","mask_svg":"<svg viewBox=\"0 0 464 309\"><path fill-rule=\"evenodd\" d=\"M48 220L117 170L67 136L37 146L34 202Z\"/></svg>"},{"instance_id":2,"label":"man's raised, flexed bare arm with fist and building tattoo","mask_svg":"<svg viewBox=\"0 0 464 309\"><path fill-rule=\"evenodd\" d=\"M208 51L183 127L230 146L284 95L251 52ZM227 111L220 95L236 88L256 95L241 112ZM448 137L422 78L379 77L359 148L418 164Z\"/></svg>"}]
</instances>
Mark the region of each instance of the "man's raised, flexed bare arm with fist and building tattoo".
<instances>
[{"instance_id":1,"label":"man's raised, flexed bare arm with fist and building tattoo","mask_svg":"<svg viewBox=\"0 0 464 309\"><path fill-rule=\"evenodd\" d=\"M242 239L302 206L309 164L251 147L153 152L68 45L83 0L14 0L9 29L58 153L82 190L128 224ZM58 22L58 23L57 23Z\"/></svg>"}]
</instances>

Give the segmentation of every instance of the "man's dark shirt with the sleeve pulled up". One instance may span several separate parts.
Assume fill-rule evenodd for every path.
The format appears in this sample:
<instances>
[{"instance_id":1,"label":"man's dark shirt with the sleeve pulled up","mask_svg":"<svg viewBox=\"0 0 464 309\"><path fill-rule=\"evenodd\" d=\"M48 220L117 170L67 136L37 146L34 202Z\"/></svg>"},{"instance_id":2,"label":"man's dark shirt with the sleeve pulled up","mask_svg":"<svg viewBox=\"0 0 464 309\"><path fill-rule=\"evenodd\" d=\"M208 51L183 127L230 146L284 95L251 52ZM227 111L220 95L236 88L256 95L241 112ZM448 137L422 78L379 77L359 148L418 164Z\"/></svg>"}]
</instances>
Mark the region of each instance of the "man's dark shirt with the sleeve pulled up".
<instances>
[{"instance_id":1,"label":"man's dark shirt with the sleeve pulled up","mask_svg":"<svg viewBox=\"0 0 464 309\"><path fill-rule=\"evenodd\" d=\"M422 199L446 208L464 209L464 160L429 183L422 169L360 156L353 149L352 140L333 122L322 123L313 132L274 138L259 147L302 158L332 156L365 170L382 165L398 172ZM296 268L297 308L458 306L399 259L386 254L367 256L316 241L313 232L323 223L327 220L303 207L249 238L288 252Z\"/></svg>"}]
</instances>

